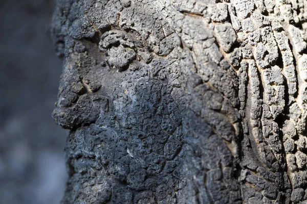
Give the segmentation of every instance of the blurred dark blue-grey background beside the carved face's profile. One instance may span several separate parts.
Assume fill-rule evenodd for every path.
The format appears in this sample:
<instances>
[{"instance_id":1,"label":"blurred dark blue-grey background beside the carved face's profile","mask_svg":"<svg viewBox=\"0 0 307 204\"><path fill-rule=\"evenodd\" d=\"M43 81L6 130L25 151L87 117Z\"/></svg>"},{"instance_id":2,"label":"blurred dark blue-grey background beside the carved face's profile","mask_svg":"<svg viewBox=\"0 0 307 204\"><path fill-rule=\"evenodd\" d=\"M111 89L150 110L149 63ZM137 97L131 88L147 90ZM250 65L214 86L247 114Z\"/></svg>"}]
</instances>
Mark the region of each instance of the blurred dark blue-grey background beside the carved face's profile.
<instances>
[{"instance_id":1,"label":"blurred dark blue-grey background beside the carved face's profile","mask_svg":"<svg viewBox=\"0 0 307 204\"><path fill-rule=\"evenodd\" d=\"M59 203L68 132L51 113L62 62L48 27L53 0L0 1L0 204Z\"/></svg>"}]
</instances>

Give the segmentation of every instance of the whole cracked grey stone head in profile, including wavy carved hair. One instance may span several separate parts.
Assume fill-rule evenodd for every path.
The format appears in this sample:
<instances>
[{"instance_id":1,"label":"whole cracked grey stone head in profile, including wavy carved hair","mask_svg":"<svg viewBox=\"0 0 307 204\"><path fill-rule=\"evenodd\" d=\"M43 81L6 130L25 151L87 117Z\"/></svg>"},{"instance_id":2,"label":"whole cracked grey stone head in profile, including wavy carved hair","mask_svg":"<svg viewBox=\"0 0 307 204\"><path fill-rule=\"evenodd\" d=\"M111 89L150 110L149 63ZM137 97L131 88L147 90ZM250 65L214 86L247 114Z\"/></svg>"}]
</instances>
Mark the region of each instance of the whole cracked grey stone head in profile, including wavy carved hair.
<instances>
[{"instance_id":1,"label":"whole cracked grey stone head in profile, including wavy carved hair","mask_svg":"<svg viewBox=\"0 0 307 204\"><path fill-rule=\"evenodd\" d=\"M62 203L307 201L307 2L59 0Z\"/></svg>"}]
</instances>

